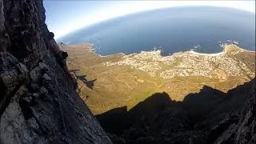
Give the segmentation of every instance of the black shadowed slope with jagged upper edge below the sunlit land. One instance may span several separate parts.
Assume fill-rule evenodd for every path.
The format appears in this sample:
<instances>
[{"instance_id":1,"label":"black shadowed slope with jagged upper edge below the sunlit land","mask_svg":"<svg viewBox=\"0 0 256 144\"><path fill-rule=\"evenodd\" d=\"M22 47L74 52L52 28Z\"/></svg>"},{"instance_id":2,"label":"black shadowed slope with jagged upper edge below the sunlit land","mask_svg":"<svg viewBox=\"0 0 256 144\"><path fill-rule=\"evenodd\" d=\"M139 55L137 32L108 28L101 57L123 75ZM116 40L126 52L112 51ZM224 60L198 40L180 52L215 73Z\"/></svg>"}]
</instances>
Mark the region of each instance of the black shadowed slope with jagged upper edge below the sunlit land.
<instances>
[{"instance_id":1,"label":"black shadowed slope with jagged upper edge below the sunlit land","mask_svg":"<svg viewBox=\"0 0 256 144\"><path fill-rule=\"evenodd\" d=\"M96 118L114 143L234 143L235 126L254 94L255 78L227 93L204 86L183 102L156 93L130 110L122 106Z\"/></svg>"}]
</instances>

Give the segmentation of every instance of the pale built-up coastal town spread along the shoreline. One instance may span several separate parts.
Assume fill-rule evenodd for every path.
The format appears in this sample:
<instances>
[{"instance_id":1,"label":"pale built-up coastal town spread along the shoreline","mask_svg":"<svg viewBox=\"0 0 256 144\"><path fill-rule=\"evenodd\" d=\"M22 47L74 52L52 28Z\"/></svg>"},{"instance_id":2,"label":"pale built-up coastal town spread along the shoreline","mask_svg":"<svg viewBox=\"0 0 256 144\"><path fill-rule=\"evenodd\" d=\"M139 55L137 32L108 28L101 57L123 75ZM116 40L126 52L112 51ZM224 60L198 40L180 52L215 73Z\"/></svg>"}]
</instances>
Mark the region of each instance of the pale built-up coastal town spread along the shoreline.
<instances>
[{"instance_id":1,"label":"pale built-up coastal town spread along the shoreline","mask_svg":"<svg viewBox=\"0 0 256 144\"><path fill-rule=\"evenodd\" d=\"M163 79L174 76L205 76L225 80L228 76L248 75L253 78L254 70L250 70L245 63L230 54L243 50L235 45L223 46L224 50L218 54L199 54L193 50L175 53L162 57L160 50L142 51L139 54L129 54L118 62L104 62L105 66L130 66L133 69L143 70L151 77L158 76ZM232 53L230 52L232 48Z\"/></svg>"}]
</instances>

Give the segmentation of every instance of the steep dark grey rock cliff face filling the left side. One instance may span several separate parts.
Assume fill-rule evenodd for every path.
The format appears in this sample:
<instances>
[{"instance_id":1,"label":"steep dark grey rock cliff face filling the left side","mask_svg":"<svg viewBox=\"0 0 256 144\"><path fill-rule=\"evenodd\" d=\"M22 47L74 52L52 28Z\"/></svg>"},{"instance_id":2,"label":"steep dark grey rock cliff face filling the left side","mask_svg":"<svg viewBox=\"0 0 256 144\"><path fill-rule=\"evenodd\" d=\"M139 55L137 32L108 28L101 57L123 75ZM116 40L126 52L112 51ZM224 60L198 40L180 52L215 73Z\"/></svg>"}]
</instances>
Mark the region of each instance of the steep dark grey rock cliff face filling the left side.
<instances>
[{"instance_id":1,"label":"steep dark grey rock cliff face filling the left side","mask_svg":"<svg viewBox=\"0 0 256 144\"><path fill-rule=\"evenodd\" d=\"M1 143L111 143L47 50L42 0L0 0Z\"/></svg>"}]
</instances>

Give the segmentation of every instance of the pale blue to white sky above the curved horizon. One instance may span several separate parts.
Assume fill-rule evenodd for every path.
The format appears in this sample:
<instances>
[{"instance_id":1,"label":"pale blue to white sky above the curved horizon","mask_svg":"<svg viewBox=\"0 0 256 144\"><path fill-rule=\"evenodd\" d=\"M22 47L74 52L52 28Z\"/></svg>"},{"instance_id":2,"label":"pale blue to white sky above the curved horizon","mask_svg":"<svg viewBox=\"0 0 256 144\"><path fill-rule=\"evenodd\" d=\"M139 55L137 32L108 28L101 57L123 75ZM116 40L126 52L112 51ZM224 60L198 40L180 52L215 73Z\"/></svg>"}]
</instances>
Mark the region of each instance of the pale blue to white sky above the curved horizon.
<instances>
[{"instance_id":1,"label":"pale blue to white sky above the curved horizon","mask_svg":"<svg viewBox=\"0 0 256 144\"><path fill-rule=\"evenodd\" d=\"M126 14L177 6L220 6L255 14L255 1L54 1L43 0L46 25L60 38L74 30Z\"/></svg>"}]
</instances>

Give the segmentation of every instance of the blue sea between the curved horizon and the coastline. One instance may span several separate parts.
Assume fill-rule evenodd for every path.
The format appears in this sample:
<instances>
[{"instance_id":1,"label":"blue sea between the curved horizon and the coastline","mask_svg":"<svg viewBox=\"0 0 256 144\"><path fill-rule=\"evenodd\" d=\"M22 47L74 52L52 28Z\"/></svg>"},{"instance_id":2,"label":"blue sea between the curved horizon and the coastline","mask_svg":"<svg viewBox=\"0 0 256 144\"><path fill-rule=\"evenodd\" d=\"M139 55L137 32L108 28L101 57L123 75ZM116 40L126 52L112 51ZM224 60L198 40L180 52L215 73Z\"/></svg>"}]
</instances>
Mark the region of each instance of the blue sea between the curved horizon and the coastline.
<instances>
[{"instance_id":1,"label":"blue sea between the curved horizon and the coastline","mask_svg":"<svg viewBox=\"0 0 256 144\"><path fill-rule=\"evenodd\" d=\"M222 51L220 43L239 42L255 50L255 14L209 6L178 7L130 14L75 31L58 42L90 42L98 54L162 50L162 55L190 50Z\"/></svg>"}]
</instances>

